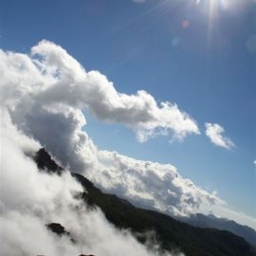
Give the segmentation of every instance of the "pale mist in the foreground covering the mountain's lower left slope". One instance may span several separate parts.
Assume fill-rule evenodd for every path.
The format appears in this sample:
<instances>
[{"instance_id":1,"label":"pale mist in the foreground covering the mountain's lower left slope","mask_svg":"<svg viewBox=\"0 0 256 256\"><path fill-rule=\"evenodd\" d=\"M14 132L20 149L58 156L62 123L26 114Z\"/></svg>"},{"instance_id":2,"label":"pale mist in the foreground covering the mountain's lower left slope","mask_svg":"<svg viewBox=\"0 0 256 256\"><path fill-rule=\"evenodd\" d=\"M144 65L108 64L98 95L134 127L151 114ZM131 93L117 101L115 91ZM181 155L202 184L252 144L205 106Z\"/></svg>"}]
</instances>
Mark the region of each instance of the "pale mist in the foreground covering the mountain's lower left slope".
<instances>
[{"instance_id":1,"label":"pale mist in the foreground covering the mountain's lower left slope","mask_svg":"<svg viewBox=\"0 0 256 256\"><path fill-rule=\"evenodd\" d=\"M1 255L171 256L142 246L127 230L115 229L100 210L86 209L74 196L82 188L71 174L40 172L27 153L41 145L18 131L7 112L1 122ZM64 225L76 243L46 229L49 222Z\"/></svg>"}]
</instances>

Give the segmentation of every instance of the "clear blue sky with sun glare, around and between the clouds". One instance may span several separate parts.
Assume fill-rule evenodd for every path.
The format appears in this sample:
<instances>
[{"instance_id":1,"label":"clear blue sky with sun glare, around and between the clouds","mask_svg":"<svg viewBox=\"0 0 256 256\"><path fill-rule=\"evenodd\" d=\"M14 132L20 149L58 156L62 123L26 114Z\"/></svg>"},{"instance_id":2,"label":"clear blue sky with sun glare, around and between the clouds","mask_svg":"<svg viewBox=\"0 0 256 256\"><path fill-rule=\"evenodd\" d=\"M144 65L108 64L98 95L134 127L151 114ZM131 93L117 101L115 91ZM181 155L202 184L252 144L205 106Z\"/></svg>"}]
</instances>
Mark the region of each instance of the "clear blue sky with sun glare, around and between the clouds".
<instances>
[{"instance_id":1,"label":"clear blue sky with sun glare, around and between the clouds","mask_svg":"<svg viewBox=\"0 0 256 256\"><path fill-rule=\"evenodd\" d=\"M223 4L1 1L0 47L29 54L46 39L119 92L145 90L159 104L176 103L197 130L178 137L171 125L171 132L156 128L159 136L137 139L129 123L101 121L86 109L84 130L101 150L171 163L229 209L256 217L256 6Z\"/></svg>"}]
</instances>

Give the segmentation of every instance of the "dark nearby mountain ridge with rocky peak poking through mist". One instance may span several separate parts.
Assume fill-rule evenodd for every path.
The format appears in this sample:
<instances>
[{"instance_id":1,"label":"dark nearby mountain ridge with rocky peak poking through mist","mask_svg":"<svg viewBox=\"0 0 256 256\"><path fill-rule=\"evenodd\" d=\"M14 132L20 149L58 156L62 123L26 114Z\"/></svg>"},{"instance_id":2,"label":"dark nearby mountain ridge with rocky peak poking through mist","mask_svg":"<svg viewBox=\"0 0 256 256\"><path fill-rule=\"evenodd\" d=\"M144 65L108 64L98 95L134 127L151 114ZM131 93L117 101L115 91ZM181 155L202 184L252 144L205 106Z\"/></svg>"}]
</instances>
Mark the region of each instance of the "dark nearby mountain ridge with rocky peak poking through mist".
<instances>
[{"instance_id":1,"label":"dark nearby mountain ridge with rocky peak poking through mist","mask_svg":"<svg viewBox=\"0 0 256 256\"><path fill-rule=\"evenodd\" d=\"M34 159L42 171L64 172L45 149L41 149ZM254 247L229 231L193 227L155 210L137 208L115 194L101 192L81 174L71 174L82 184L84 192L79 196L89 207L99 207L108 221L119 229L131 230L141 243L152 234L152 239L161 248L180 249L187 256L256 256Z\"/></svg>"}]
</instances>

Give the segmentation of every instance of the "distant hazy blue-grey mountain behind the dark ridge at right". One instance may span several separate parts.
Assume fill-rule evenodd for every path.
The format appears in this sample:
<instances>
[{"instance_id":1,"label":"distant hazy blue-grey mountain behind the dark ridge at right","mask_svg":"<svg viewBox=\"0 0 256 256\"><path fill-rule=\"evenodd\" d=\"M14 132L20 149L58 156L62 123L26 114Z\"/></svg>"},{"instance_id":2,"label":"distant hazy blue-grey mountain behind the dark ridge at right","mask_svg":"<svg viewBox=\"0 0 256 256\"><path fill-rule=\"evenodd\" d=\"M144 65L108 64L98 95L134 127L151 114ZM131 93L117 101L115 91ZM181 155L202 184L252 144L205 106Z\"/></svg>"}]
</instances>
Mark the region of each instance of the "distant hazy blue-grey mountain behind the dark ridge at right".
<instances>
[{"instance_id":1,"label":"distant hazy blue-grey mountain behind the dark ridge at right","mask_svg":"<svg viewBox=\"0 0 256 256\"><path fill-rule=\"evenodd\" d=\"M190 217L178 218L178 220L181 220L194 227L228 230L236 235L242 236L248 243L256 247L256 231L229 219L218 218L213 214L204 215L197 213Z\"/></svg>"}]
</instances>

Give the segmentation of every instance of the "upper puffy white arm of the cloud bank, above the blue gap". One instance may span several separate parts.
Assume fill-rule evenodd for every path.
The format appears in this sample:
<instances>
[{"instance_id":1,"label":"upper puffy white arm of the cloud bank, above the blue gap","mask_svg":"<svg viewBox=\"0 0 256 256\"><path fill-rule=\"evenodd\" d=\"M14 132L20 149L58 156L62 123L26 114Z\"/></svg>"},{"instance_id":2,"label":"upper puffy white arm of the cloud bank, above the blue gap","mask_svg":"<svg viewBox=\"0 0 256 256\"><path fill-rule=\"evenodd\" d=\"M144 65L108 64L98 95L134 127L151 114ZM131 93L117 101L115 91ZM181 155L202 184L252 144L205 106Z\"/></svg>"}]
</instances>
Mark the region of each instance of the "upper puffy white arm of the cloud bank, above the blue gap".
<instances>
[{"instance_id":1,"label":"upper puffy white arm of the cloud bank, above the blue gap","mask_svg":"<svg viewBox=\"0 0 256 256\"><path fill-rule=\"evenodd\" d=\"M182 139L200 133L196 121L175 103L166 101L158 105L154 97L143 90L134 95L120 93L99 71L86 72L61 46L43 41L32 47L30 56L4 52L1 55L10 68L3 66L4 75L18 71L23 81L21 85L14 85L19 77L10 80L11 86L6 84L10 87L8 94L12 88L16 97L38 94L39 89L37 102L87 108L98 119L131 128L141 142L159 134L171 133ZM47 82L42 82L45 78Z\"/></svg>"}]
</instances>

